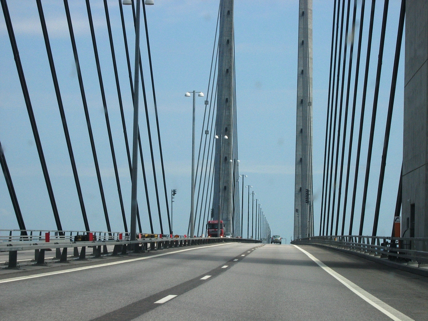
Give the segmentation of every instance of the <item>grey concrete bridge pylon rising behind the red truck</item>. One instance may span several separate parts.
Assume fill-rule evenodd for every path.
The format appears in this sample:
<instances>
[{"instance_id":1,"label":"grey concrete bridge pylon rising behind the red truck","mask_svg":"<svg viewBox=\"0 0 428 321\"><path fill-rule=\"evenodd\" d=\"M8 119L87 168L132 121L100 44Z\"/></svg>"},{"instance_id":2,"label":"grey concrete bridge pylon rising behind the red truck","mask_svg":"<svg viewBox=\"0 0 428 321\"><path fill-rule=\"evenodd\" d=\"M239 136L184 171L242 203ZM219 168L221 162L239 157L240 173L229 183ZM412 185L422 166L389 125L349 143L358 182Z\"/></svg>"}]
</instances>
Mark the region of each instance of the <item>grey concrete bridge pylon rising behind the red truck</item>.
<instances>
[{"instance_id":1,"label":"grey concrete bridge pylon rising behind the red truck","mask_svg":"<svg viewBox=\"0 0 428 321\"><path fill-rule=\"evenodd\" d=\"M214 158L213 219L225 224L232 233L233 160L235 106L235 65L233 35L233 0L220 0L220 30L218 39L217 116ZM227 139L224 138L227 136Z\"/></svg>"}]
</instances>

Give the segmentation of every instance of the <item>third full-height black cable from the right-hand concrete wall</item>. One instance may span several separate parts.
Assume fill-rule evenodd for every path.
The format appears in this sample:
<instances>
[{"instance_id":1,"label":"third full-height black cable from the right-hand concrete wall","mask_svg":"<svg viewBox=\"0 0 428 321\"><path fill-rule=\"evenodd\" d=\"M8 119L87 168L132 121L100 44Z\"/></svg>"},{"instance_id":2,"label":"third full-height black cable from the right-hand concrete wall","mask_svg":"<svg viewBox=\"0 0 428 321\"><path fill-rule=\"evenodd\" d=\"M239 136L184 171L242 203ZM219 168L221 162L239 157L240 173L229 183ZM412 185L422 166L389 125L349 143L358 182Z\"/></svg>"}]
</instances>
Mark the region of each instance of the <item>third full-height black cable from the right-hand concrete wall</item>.
<instances>
[{"instance_id":1,"label":"third full-height black cable from the right-hand concrete wall","mask_svg":"<svg viewBox=\"0 0 428 321\"><path fill-rule=\"evenodd\" d=\"M353 191L352 191L352 204L351 204L351 217L350 217L350 223L349 223L349 235L352 235L352 227L354 225L355 197L357 194L358 169L360 166L361 140L363 137L363 126L364 126L364 112L366 109L367 81L368 81L368 77L369 77L370 53L372 51L373 21L375 19L375 3L376 3L375 0L372 0L372 9L371 9L371 13L370 13L370 24L369 24L369 39L367 41L366 70L364 72L363 98L361 101L360 131L358 134L357 158L355 161L354 187L353 187Z\"/></svg>"}]
</instances>

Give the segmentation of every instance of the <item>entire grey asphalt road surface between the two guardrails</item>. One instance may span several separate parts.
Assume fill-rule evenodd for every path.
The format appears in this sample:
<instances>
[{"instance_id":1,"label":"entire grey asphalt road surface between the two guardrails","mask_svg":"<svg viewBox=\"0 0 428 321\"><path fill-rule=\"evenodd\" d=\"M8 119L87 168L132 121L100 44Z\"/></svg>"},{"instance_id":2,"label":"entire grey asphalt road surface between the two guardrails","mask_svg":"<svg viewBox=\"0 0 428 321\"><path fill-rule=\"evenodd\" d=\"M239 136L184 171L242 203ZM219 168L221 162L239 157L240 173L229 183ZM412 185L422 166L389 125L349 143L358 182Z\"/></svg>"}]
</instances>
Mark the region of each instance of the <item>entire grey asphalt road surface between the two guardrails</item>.
<instances>
[{"instance_id":1,"label":"entire grey asphalt road surface between the two guardrails","mask_svg":"<svg viewBox=\"0 0 428 321\"><path fill-rule=\"evenodd\" d=\"M0 319L428 320L427 278L300 248L324 268L292 245L232 243L2 275Z\"/></svg>"}]
</instances>

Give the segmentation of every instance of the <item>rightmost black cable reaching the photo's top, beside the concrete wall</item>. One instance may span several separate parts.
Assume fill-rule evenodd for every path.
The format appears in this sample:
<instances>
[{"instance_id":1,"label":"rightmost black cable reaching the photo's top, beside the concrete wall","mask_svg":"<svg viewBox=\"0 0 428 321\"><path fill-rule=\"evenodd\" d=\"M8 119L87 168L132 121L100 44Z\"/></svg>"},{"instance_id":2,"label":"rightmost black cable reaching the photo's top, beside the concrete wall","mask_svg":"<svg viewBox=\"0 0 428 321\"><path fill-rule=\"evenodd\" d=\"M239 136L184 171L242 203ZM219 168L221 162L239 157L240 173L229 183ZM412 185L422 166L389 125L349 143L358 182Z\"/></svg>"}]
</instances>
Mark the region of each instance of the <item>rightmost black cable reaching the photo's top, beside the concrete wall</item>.
<instances>
[{"instance_id":1,"label":"rightmost black cable reaching the photo's top, beside the concrete wall","mask_svg":"<svg viewBox=\"0 0 428 321\"><path fill-rule=\"evenodd\" d=\"M377 233L377 221L379 220L380 200L382 198L383 178L385 177L386 155L388 154L389 133L391 131L392 110L394 108L395 87L397 85L398 64L400 62L401 40L403 39L404 17L406 13L406 0L401 0L400 19L398 21L397 44L395 45L394 66L392 68L391 89L389 92L388 114L386 117L385 138L383 140L382 160L380 163L379 184L377 186L377 198L375 207L375 219L373 221L372 235Z\"/></svg>"}]
</instances>

